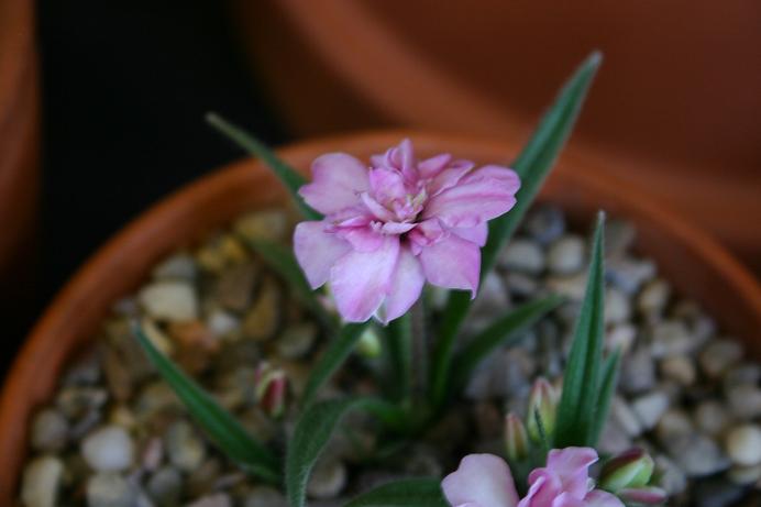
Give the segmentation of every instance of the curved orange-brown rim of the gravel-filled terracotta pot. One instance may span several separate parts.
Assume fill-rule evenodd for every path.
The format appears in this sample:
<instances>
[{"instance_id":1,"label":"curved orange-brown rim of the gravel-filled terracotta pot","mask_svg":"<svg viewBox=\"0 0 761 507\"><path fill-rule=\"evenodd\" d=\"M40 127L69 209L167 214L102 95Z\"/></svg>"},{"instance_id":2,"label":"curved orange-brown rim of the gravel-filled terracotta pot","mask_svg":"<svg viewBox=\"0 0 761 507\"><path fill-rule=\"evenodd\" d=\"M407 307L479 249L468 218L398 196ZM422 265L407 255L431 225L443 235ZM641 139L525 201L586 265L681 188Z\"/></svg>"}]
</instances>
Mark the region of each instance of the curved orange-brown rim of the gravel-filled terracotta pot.
<instances>
[{"instance_id":1,"label":"curved orange-brown rim of the gravel-filled terracotta pot","mask_svg":"<svg viewBox=\"0 0 761 507\"><path fill-rule=\"evenodd\" d=\"M514 144L487 140L484 136L463 136L410 130L382 130L319 137L290 144L277 150L277 152L280 156L297 165L297 167L304 168L308 166L308 162L311 162L317 156L316 154L324 153L327 146L332 150L340 146L341 150L348 153L354 153L361 146L365 148L370 145L389 146L407 136L413 139L418 147L422 146L422 151L426 151L426 146L446 145L451 146L454 153L461 150L465 152L470 150L471 152L488 154L494 159L504 158L516 152L516 145ZM589 164L589 159L583 153L576 153L573 148L566 148L550 181L554 179L562 184L563 178L565 180L573 178L577 179L581 186L595 189L598 192L620 190L620 187L617 187L618 180L616 178L609 177L598 168L595 168L594 165L587 167L587 164ZM573 170L567 168L570 166L573 167ZM189 207L202 201L205 196L225 189L230 191L230 183L242 177L251 177L250 172L252 167L262 168L263 164L249 158L233 162L179 188L118 231L74 274L64 288L48 304L15 355L12 366L7 374L0 395L0 430L2 430L0 431L0 449L3 449L11 455L14 452L19 452L19 449L26 449L25 430L27 425L20 425L22 415L15 411L18 403L20 403L20 399L30 398L31 401L24 401L24 404L29 404L29 409L31 410L36 406L38 401L36 398L40 395L34 393L30 395L31 389L27 388L27 385L37 376L38 368L44 367L46 350L49 349L51 341L57 338L56 330L65 329L67 318L73 309L76 310L77 305L79 307L87 305L93 291L97 293L97 287L101 286L101 282L109 279L114 262L123 261L123 251L130 247L134 249L135 245L141 243L141 239L145 240L155 234L159 223L167 220L176 221L183 217ZM271 178L268 172L263 169L258 174L263 175L263 181L271 181L271 179L266 179ZM273 192L272 195L279 196L280 194ZM742 311L750 315L750 319L754 319L754 322L759 324L758 329L761 329L761 286L759 286L754 277L713 238L695 229L671 212L666 207L648 200L646 197L638 192L619 192L617 195L617 198L620 198L624 202L625 208L628 207L628 209L641 211L649 223L655 223L661 227L675 241L685 243L690 252L698 256L702 263L717 269L719 276L724 277L734 287L741 300L747 301L746 308ZM135 283L139 282L139 279L135 280ZM109 301L109 305L110 302L112 301ZM751 345L758 349L758 344L751 343ZM71 351L69 350L69 352ZM759 351L756 350L756 352L758 353ZM23 415L23 417L29 416L30 414ZM13 447L15 450L7 450L5 445L9 445L9 448ZM10 463L15 464L12 461ZM5 481L12 481L5 483L5 485L3 485L3 482L0 482L0 500L13 497L18 487L20 470L20 466L15 466L15 469L8 466L4 470ZM7 488L10 489L7 491Z\"/></svg>"}]
</instances>

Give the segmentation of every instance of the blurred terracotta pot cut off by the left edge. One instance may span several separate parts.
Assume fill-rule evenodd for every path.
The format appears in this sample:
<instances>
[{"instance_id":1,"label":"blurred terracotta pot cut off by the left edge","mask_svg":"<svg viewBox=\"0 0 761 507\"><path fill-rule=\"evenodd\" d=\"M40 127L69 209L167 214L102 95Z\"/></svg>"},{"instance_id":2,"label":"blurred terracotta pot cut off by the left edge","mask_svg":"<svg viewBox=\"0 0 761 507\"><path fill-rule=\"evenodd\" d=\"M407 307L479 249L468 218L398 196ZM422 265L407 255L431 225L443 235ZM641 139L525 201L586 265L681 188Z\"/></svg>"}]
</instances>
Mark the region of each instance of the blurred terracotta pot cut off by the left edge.
<instances>
[{"instance_id":1,"label":"blurred terracotta pot cut off by the left edge","mask_svg":"<svg viewBox=\"0 0 761 507\"><path fill-rule=\"evenodd\" d=\"M37 205L38 96L34 2L0 0L0 282L29 274ZM26 280L27 282L27 280ZM5 301L0 296L0 301ZM18 311L14 306L14 311Z\"/></svg>"}]
</instances>

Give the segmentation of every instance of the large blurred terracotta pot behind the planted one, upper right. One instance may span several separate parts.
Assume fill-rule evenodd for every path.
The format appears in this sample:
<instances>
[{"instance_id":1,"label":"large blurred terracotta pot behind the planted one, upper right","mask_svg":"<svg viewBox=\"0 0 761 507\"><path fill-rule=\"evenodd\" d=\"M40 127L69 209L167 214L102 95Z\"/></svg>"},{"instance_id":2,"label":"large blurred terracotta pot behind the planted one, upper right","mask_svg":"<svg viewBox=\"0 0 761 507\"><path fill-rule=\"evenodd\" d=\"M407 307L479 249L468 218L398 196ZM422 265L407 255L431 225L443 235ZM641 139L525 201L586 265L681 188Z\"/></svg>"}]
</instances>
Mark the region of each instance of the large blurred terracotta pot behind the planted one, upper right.
<instances>
[{"instance_id":1,"label":"large blurred terracotta pot behind the planted one, upper right","mask_svg":"<svg viewBox=\"0 0 761 507\"><path fill-rule=\"evenodd\" d=\"M305 134L391 123L522 139L599 48L582 144L761 258L747 223L761 216L757 1L232 3L257 78Z\"/></svg>"}]
</instances>

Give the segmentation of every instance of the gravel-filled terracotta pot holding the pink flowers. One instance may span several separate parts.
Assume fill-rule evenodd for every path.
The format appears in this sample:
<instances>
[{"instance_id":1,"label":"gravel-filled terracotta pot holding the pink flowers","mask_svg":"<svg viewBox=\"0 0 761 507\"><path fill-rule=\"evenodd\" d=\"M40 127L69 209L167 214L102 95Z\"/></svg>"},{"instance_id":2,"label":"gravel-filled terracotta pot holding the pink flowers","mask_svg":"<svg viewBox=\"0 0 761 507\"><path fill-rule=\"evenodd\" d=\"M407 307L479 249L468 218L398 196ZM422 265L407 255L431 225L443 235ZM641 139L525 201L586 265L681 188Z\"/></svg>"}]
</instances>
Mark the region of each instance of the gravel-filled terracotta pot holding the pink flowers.
<instances>
[{"instance_id":1,"label":"gravel-filled terracotta pot holding the pink flowers","mask_svg":"<svg viewBox=\"0 0 761 507\"><path fill-rule=\"evenodd\" d=\"M326 152L362 158L411 136L421 155L449 151L485 162L510 159L516 144L393 131L300 143L280 151L306 170ZM597 208L627 217L639 228L638 247L659 263L677 290L716 315L720 324L761 356L761 288L725 250L698 230L637 194L618 194L618 183L582 156L565 156L542 198L588 221ZM285 192L260 163L232 164L152 208L106 244L68 283L30 334L0 398L0 505L12 505L26 452L34 407L53 393L67 357L87 345L112 302L139 287L165 254L250 209L277 206Z\"/></svg>"}]
</instances>

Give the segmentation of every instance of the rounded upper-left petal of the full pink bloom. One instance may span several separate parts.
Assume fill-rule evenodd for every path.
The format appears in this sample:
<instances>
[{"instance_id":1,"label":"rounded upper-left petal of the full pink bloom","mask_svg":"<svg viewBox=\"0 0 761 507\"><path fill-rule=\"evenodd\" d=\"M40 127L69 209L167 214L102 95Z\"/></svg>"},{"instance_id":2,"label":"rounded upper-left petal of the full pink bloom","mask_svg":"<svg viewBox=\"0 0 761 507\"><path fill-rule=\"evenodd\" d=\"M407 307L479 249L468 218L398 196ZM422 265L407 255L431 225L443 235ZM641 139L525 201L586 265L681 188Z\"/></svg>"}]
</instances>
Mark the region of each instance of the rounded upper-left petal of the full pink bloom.
<instances>
[{"instance_id":1,"label":"rounded upper-left petal of the full pink bloom","mask_svg":"<svg viewBox=\"0 0 761 507\"><path fill-rule=\"evenodd\" d=\"M312 163L312 183L301 187L299 195L319 212L330 214L356 205L368 188L362 162L345 153L329 153Z\"/></svg>"}]
</instances>

